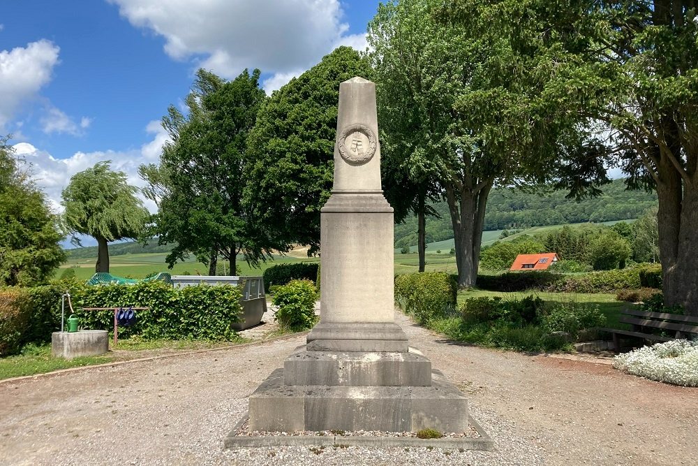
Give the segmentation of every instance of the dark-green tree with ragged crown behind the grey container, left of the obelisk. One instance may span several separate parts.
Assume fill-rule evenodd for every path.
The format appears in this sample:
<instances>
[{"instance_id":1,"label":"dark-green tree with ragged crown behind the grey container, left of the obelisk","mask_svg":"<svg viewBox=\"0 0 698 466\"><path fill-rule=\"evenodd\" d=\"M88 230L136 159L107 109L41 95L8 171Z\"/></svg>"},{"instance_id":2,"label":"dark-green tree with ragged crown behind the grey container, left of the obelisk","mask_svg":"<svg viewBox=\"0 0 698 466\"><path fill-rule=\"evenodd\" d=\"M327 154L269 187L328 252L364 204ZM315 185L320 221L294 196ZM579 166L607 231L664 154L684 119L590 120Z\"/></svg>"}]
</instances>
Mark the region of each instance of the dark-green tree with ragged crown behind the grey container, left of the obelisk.
<instances>
[{"instance_id":1,"label":"dark-green tree with ragged crown behind the grey container, left of the obelisk","mask_svg":"<svg viewBox=\"0 0 698 466\"><path fill-rule=\"evenodd\" d=\"M237 255L249 263L265 260L273 246L242 203L248 133L266 94L260 71L243 71L230 82L199 70L186 99L188 115L174 105L163 118L170 141L159 166L141 166L145 193L158 203L154 234L174 244L167 261L195 254L216 275L218 256L237 270Z\"/></svg>"}]
</instances>

